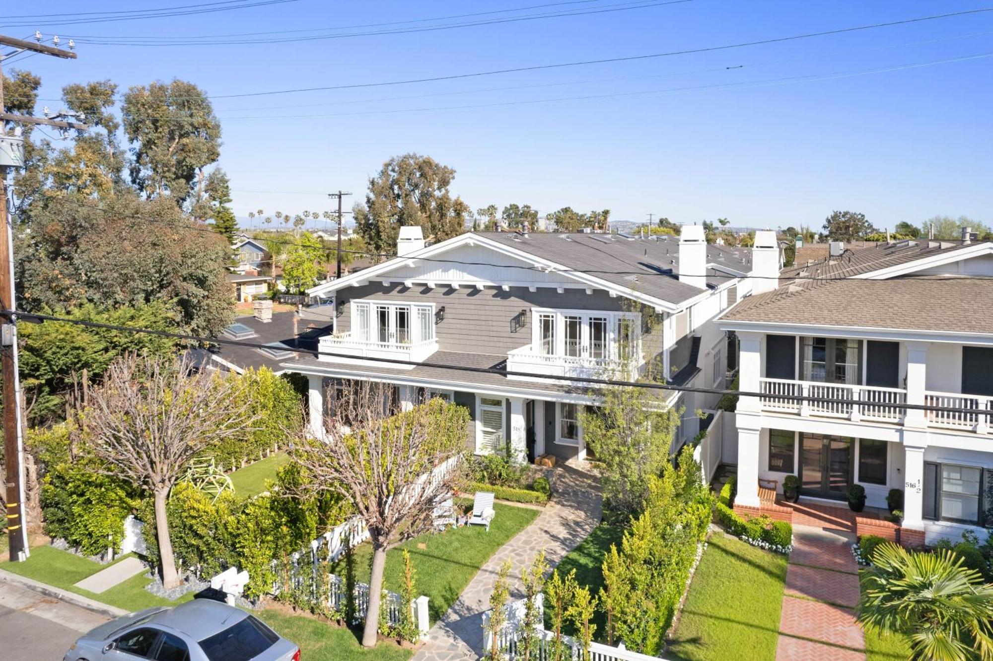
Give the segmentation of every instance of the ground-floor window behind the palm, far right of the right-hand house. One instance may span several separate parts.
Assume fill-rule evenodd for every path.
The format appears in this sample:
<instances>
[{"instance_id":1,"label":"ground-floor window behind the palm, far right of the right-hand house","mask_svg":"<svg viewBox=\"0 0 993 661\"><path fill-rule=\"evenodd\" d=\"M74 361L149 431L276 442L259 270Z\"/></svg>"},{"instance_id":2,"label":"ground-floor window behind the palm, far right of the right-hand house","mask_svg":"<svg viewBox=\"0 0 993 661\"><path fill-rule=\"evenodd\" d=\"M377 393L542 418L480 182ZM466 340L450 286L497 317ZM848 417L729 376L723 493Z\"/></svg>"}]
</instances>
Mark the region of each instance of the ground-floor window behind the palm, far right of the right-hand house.
<instances>
[{"instance_id":1,"label":"ground-floor window behind the palm, far right of the right-hand house","mask_svg":"<svg viewBox=\"0 0 993 661\"><path fill-rule=\"evenodd\" d=\"M972 465L924 463L924 518L982 525L983 472Z\"/></svg>"}]
</instances>

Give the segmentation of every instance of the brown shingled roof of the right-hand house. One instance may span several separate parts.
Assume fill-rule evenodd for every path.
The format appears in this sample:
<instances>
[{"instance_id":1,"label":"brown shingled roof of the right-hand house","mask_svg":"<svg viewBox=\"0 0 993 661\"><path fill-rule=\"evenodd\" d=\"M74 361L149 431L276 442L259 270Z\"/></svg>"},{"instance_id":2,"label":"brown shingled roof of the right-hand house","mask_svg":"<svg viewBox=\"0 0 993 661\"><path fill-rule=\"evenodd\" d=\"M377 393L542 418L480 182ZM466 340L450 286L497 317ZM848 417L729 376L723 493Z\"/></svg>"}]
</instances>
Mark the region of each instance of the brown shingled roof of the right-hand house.
<instances>
[{"instance_id":1,"label":"brown shingled roof of the right-hand house","mask_svg":"<svg viewBox=\"0 0 993 661\"><path fill-rule=\"evenodd\" d=\"M993 335L993 277L914 275L990 253L993 243L926 240L846 252L783 270L778 289L742 299L721 322Z\"/></svg>"}]
</instances>

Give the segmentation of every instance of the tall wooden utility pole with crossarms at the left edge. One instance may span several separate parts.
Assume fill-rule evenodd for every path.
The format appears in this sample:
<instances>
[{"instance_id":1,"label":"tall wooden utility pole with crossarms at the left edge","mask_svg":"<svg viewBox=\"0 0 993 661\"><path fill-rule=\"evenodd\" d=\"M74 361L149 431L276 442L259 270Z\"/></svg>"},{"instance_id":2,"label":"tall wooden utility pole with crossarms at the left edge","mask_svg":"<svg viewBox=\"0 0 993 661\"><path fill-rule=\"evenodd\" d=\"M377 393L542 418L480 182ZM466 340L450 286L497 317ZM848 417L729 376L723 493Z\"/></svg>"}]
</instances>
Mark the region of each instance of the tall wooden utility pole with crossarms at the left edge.
<instances>
[{"instance_id":1,"label":"tall wooden utility pole with crossarms at the left edge","mask_svg":"<svg viewBox=\"0 0 993 661\"><path fill-rule=\"evenodd\" d=\"M0 46L13 47L16 53L33 51L74 60L75 54L41 43L4 37ZM21 417L21 383L17 373L17 326L13 311L17 309L14 291L14 231L7 210L7 173L24 163L24 141L20 131L7 134L7 122L44 124L61 129L86 129L88 126L67 121L69 115L30 117L6 112L3 93L3 60L0 53L0 373L3 375L4 487L7 502L7 540L12 562L27 560L28 525L24 516L24 437Z\"/></svg>"}]
</instances>

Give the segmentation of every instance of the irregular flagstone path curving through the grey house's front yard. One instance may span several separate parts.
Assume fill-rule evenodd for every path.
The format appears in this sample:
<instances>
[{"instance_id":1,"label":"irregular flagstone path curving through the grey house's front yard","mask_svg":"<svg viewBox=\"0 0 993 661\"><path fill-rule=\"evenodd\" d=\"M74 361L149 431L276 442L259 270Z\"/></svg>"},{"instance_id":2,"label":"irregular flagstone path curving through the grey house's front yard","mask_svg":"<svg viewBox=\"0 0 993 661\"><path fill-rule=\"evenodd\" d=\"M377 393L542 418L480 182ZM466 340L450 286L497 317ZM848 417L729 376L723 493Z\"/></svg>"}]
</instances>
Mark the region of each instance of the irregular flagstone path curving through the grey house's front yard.
<instances>
[{"instance_id":1,"label":"irregular flagstone path curving through the grey house's front yard","mask_svg":"<svg viewBox=\"0 0 993 661\"><path fill-rule=\"evenodd\" d=\"M510 598L521 594L520 574L542 550L554 567L600 523L600 481L591 473L570 465L556 468L555 493L529 526L497 549L466 590L428 633L428 639L413 661L465 661L483 654L483 613L497 582L499 566L513 563Z\"/></svg>"}]
</instances>

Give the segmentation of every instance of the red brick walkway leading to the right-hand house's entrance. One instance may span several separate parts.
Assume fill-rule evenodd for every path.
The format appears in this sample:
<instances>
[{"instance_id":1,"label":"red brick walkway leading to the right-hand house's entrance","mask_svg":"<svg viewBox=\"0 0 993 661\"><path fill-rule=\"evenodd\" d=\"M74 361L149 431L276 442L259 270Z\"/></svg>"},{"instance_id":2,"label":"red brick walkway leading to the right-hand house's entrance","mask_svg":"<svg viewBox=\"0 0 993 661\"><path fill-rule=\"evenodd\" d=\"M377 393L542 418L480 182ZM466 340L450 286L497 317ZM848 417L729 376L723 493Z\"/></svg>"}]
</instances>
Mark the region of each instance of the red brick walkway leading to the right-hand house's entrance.
<instances>
[{"instance_id":1,"label":"red brick walkway leading to the right-hand house's entrance","mask_svg":"<svg viewBox=\"0 0 993 661\"><path fill-rule=\"evenodd\" d=\"M820 526L793 526L777 661L866 658L852 611L859 600L858 565L849 548L854 536L838 525L847 518L843 512L831 514L814 510L808 516Z\"/></svg>"}]
</instances>

